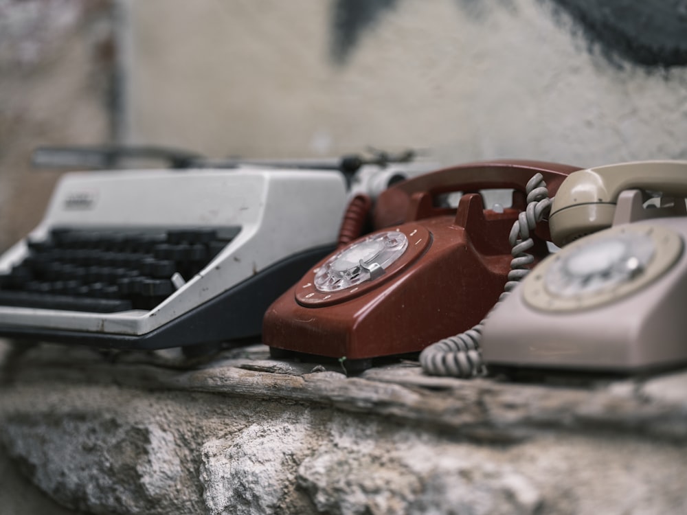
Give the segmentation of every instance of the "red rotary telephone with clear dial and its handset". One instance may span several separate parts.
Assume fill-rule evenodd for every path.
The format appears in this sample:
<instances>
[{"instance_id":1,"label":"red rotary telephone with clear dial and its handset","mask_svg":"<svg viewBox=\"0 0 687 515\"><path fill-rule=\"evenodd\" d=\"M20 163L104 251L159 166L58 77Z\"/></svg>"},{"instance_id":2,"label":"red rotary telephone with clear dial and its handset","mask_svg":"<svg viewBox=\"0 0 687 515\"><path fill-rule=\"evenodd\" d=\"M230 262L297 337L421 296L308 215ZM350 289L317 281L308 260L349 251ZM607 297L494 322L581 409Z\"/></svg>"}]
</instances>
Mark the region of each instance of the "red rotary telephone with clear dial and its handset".
<instances>
[{"instance_id":1,"label":"red rotary telephone with clear dial and its handset","mask_svg":"<svg viewBox=\"0 0 687 515\"><path fill-rule=\"evenodd\" d=\"M375 231L319 262L267 310L264 343L275 356L345 358L350 371L470 328L502 292L512 260L508 233L525 207L528 180L540 173L555 191L575 170L490 161L393 185L377 198ZM493 188L513 189L513 205L485 209L479 192ZM441 205L451 192L462 192L458 206ZM545 242L530 253L543 258Z\"/></svg>"}]
</instances>

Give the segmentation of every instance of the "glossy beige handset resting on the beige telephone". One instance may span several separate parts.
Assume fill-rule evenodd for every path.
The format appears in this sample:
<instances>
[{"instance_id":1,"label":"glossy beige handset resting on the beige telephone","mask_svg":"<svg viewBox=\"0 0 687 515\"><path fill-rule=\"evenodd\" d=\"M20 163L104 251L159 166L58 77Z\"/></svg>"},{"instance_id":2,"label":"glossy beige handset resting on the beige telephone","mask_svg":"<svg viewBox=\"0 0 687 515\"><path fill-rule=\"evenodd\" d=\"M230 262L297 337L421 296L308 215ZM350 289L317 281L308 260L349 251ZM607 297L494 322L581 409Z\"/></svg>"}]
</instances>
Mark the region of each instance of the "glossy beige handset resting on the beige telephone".
<instances>
[{"instance_id":1,"label":"glossy beige handset resting on the beige telephone","mask_svg":"<svg viewBox=\"0 0 687 515\"><path fill-rule=\"evenodd\" d=\"M687 161L635 161L573 172L549 215L554 244L563 247L613 224L618 196L640 189L687 197Z\"/></svg>"}]
</instances>

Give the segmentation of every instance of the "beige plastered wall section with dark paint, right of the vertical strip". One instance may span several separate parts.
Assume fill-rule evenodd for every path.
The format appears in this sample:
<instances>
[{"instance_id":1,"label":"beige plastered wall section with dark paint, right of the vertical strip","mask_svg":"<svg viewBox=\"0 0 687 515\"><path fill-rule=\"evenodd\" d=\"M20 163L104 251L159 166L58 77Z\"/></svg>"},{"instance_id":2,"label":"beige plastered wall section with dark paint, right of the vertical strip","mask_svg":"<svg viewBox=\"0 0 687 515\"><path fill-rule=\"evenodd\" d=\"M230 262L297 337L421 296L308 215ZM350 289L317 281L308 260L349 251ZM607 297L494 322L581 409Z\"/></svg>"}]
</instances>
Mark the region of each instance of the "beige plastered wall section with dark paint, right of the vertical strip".
<instances>
[{"instance_id":1,"label":"beige plastered wall section with dark paint, right of the vertical strip","mask_svg":"<svg viewBox=\"0 0 687 515\"><path fill-rule=\"evenodd\" d=\"M131 1L128 137L213 156L684 159L687 19L653 4Z\"/></svg>"}]
</instances>

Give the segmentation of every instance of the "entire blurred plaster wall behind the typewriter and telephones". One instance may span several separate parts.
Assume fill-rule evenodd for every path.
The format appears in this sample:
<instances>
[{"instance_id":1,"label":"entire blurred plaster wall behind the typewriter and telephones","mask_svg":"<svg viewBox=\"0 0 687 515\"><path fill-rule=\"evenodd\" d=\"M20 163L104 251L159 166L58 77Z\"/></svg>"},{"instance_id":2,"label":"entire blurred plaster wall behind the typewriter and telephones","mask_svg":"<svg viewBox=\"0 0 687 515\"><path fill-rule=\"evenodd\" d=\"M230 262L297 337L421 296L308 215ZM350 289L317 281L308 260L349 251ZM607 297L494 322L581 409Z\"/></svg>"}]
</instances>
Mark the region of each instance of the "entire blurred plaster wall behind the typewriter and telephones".
<instances>
[{"instance_id":1,"label":"entire blurred plaster wall behind the typewriter and telephones","mask_svg":"<svg viewBox=\"0 0 687 515\"><path fill-rule=\"evenodd\" d=\"M0 249L38 144L687 159L682 0L0 0Z\"/></svg>"}]
</instances>

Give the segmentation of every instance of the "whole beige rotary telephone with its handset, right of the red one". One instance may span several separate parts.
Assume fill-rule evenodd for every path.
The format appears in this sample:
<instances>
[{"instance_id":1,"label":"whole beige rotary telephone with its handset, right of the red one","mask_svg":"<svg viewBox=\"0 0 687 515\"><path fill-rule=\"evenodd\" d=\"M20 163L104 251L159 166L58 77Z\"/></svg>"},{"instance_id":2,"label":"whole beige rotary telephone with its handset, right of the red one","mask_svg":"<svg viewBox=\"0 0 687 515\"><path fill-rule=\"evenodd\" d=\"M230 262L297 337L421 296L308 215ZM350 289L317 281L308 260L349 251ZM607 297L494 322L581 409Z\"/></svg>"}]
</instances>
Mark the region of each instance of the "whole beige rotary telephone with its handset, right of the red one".
<instances>
[{"instance_id":1,"label":"whole beige rotary telephone with its handset, right of the red one","mask_svg":"<svg viewBox=\"0 0 687 515\"><path fill-rule=\"evenodd\" d=\"M627 374L686 364L686 197L687 161L570 174L549 215L552 240L565 247L489 315L489 369Z\"/></svg>"}]
</instances>

